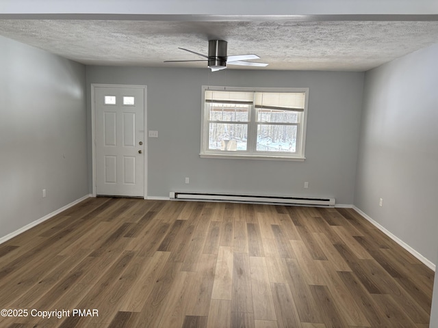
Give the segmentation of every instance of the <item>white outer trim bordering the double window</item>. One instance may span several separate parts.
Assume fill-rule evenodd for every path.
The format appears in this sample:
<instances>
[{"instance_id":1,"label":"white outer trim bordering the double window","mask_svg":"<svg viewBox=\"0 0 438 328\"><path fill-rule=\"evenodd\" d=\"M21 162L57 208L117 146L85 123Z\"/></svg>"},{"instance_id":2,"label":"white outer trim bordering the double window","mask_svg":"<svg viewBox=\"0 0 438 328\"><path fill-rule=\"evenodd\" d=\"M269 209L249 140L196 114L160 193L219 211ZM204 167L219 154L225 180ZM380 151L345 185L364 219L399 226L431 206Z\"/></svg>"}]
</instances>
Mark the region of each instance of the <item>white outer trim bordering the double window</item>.
<instances>
[{"instance_id":1,"label":"white outer trim bordering the double window","mask_svg":"<svg viewBox=\"0 0 438 328\"><path fill-rule=\"evenodd\" d=\"M230 92L303 92L305 93L305 108L302 111L302 122L297 124L297 151L294 154L283 153L266 153L266 152L235 152L227 150L208 150L209 144L209 128L206 126L205 120L205 91L230 91ZM220 159L258 159L258 160L274 160L274 161L305 161L305 143L307 131L307 111L309 104L309 88L308 87L224 87L224 86L202 86L201 95L201 152L199 156L202 158L220 158ZM253 125L257 129L255 110L250 109L248 113L248 128ZM251 139L248 138L248 143ZM253 141L254 142L254 141Z\"/></svg>"}]
</instances>

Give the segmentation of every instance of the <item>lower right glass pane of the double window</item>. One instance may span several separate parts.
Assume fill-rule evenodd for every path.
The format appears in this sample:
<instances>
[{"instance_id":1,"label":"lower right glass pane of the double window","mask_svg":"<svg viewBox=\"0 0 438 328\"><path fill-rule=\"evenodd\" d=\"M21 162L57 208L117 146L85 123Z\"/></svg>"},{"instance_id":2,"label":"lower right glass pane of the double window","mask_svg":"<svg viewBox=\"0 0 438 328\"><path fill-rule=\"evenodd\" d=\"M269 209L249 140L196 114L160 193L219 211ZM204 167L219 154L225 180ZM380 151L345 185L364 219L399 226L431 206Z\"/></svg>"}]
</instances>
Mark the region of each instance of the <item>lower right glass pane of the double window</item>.
<instances>
[{"instance_id":1,"label":"lower right glass pane of the double window","mask_svg":"<svg viewBox=\"0 0 438 328\"><path fill-rule=\"evenodd\" d=\"M259 124L257 151L296 152L296 125Z\"/></svg>"}]
</instances>

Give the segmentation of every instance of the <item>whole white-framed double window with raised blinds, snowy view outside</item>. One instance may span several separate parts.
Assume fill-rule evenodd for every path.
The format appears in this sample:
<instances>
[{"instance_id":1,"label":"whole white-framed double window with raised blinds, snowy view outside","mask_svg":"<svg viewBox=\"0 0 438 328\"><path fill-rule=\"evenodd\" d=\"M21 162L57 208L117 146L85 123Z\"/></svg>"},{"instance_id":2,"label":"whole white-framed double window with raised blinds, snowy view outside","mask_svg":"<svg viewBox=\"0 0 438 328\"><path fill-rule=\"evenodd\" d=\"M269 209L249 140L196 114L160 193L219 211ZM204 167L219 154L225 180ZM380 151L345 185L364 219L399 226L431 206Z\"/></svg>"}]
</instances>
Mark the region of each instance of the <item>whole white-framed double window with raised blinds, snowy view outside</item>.
<instances>
[{"instance_id":1,"label":"whole white-framed double window with raised blinds, snowy view outside","mask_svg":"<svg viewBox=\"0 0 438 328\"><path fill-rule=\"evenodd\" d=\"M201 156L303 161L308 94L203 87Z\"/></svg>"}]
</instances>

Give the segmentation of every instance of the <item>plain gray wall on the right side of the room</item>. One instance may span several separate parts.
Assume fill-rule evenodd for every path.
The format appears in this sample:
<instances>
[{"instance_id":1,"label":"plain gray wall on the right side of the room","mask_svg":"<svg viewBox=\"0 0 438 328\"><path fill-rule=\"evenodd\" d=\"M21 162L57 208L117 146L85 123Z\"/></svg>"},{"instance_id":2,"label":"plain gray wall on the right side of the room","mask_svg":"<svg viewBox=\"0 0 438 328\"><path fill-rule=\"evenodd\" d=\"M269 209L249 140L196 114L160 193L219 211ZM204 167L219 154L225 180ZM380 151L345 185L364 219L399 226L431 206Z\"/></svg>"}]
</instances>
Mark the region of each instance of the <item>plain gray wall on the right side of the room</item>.
<instances>
[{"instance_id":1,"label":"plain gray wall on the right side of the room","mask_svg":"<svg viewBox=\"0 0 438 328\"><path fill-rule=\"evenodd\" d=\"M430 261L438 245L437 58L435 44L365 74L355 193L358 208Z\"/></svg>"}]
</instances>

